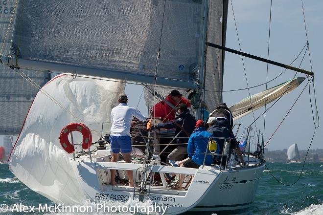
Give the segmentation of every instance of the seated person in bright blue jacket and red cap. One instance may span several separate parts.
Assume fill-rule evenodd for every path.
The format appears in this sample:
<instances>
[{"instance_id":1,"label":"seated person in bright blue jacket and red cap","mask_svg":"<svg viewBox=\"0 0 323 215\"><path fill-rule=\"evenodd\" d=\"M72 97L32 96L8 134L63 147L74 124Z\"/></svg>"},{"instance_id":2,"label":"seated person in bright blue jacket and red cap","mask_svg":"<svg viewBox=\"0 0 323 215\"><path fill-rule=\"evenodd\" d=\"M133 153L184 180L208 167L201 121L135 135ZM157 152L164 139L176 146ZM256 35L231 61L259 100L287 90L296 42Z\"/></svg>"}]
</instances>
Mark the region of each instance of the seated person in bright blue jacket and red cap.
<instances>
[{"instance_id":1,"label":"seated person in bright blue jacket and red cap","mask_svg":"<svg viewBox=\"0 0 323 215\"><path fill-rule=\"evenodd\" d=\"M180 167L186 167L186 168L200 168L201 165L203 165L205 152L208 149L208 139L212 136L212 133L209 133L204 128L204 122L203 120L198 120L196 122L196 129L191 134L191 136L188 139L188 145L187 145L187 153L188 158L183 160L182 162L178 162L174 165L174 161L169 161L169 163L172 164L172 166L180 165ZM209 151L207 153L210 153ZM205 159L205 165L211 165L212 164L212 155L208 154ZM183 180L185 175L180 175L180 180L178 182L178 185L173 187L174 189L182 189Z\"/></svg>"}]
</instances>

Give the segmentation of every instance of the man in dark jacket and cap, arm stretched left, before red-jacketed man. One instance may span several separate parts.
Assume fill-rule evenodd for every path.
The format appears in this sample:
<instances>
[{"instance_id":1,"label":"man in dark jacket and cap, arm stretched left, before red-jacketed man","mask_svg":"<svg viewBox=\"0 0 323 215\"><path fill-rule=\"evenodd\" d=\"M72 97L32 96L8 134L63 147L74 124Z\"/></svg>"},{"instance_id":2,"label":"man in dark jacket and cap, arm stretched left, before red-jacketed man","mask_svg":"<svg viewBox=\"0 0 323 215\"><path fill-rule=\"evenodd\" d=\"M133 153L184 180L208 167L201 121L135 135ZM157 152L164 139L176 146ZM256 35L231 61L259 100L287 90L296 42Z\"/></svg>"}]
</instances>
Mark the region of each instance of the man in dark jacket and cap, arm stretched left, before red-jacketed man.
<instances>
[{"instance_id":1,"label":"man in dark jacket and cap, arm stretched left, before red-jacketed man","mask_svg":"<svg viewBox=\"0 0 323 215\"><path fill-rule=\"evenodd\" d=\"M172 122L160 123L156 126L156 129L176 129L175 136L176 139L173 141L174 144L188 143L188 138L195 129L195 117L189 113L187 106L185 104L180 104L178 107L178 117ZM176 124L183 127L182 130ZM178 147L169 153L167 156L168 160L181 161L187 157L187 145L178 145Z\"/></svg>"}]
</instances>

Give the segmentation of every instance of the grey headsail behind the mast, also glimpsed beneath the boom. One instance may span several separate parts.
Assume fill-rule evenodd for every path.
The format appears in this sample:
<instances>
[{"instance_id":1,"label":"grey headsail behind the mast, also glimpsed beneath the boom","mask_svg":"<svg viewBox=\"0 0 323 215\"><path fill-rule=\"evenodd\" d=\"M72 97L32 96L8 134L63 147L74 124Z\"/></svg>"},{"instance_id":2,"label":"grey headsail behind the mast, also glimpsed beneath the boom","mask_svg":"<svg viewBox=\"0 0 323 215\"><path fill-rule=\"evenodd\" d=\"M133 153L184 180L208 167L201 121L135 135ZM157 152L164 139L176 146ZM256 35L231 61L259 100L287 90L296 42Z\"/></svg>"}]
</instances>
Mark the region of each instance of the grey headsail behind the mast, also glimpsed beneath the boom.
<instances>
[{"instance_id":1,"label":"grey headsail behind the mast, also glimpsed beneath the boom","mask_svg":"<svg viewBox=\"0 0 323 215\"><path fill-rule=\"evenodd\" d=\"M201 2L201 0L195 0ZM216 43L225 46L226 31L227 31L227 17L228 17L228 0L209 1L208 5L208 34L206 40L210 43ZM205 94L202 98L205 108L210 112L219 103L222 102L223 89L223 68L224 68L224 51L215 48L208 48L205 59L206 67L204 69L205 77ZM199 74L198 71L203 67L203 64L191 64L189 72L191 74ZM200 80L202 83L204 80ZM177 88L176 88L177 87ZM178 85L174 88L178 89ZM191 88L192 89L192 88ZM172 89L158 86L156 92L166 97ZM201 89L202 90L202 89ZM192 90L191 90L192 91ZM187 98L188 93L185 90L180 92ZM156 99L155 103L159 102ZM148 108L154 105L153 95L148 90L145 91L145 103Z\"/></svg>"}]
</instances>

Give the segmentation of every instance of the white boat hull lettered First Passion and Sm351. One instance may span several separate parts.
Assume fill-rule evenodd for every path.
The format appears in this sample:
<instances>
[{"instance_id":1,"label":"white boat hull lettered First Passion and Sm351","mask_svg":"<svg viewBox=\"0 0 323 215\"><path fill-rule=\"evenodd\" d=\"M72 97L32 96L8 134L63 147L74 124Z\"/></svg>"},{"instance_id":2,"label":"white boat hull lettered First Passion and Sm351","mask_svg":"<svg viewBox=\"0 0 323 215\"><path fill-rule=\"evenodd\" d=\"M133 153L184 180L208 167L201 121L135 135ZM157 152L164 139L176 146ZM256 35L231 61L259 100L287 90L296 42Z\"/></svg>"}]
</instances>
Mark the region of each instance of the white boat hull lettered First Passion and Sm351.
<instances>
[{"instance_id":1,"label":"white boat hull lettered First Passion and Sm351","mask_svg":"<svg viewBox=\"0 0 323 215\"><path fill-rule=\"evenodd\" d=\"M102 159L103 161L103 159ZM112 186L102 183L102 172L109 169L136 170L142 164L111 163L77 159L71 161L80 187L85 196L92 201L127 201L138 199L134 188ZM175 191L152 186L149 195L143 200L151 200L158 206L167 206L166 213L199 213L203 214L248 214L250 213L254 196L263 175L265 162L258 162L248 168L228 168L219 171L216 167L205 166L203 169L178 168L161 165L149 165L152 172L176 172L194 175L187 191ZM103 175L103 177L105 177ZM107 177L108 178L108 177ZM138 188L136 188L138 190Z\"/></svg>"}]
</instances>

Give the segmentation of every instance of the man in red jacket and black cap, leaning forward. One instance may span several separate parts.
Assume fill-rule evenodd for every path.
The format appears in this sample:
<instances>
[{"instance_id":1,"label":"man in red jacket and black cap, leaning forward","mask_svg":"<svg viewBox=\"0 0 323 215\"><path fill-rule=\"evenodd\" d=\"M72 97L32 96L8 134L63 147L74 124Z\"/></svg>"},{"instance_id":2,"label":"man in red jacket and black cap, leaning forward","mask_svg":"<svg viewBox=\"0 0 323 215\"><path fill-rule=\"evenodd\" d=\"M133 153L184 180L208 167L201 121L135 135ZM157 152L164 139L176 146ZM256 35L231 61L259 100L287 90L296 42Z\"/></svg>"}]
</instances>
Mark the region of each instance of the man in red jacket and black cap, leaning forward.
<instances>
[{"instance_id":1,"label":"man in red jacket and black cap, leaning forward","mask_svg":"<svg viewBox=\"0 0 323 215\"><path fill-rule=\"evenodd\" d=\"M178 107L181 103L185 104L187 108L191 107L191 103L176 89L172 90L165 100L175 107ZM166 118L171 121L175 119L176 110L167 105L164 101L154 105L150 111L152 112L153 117Z\"/></svg>"}]
</instances>

